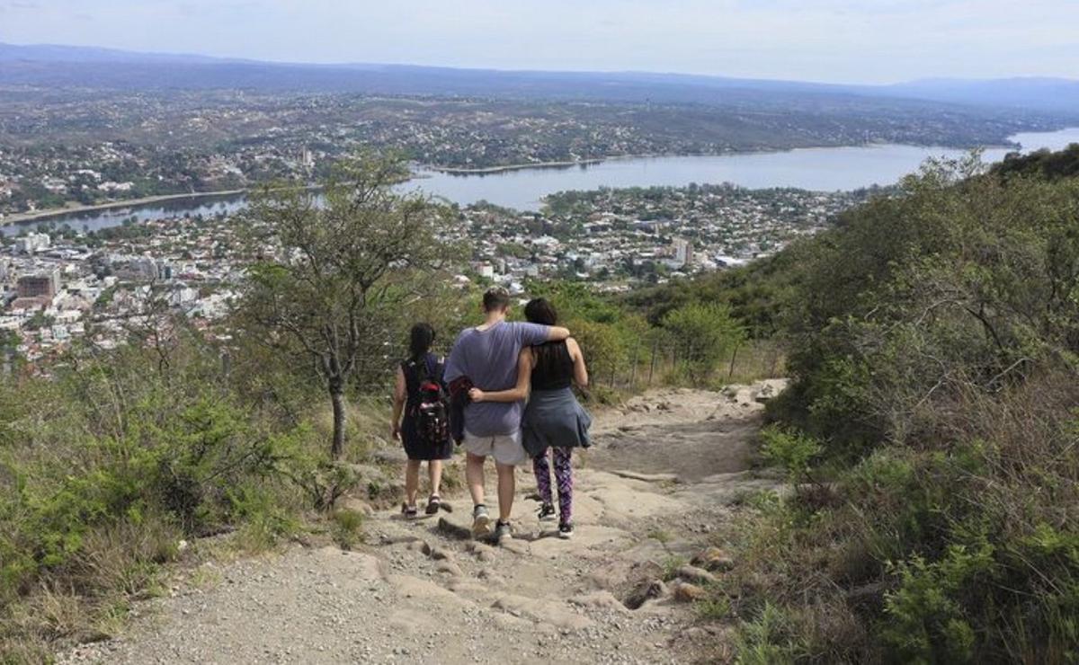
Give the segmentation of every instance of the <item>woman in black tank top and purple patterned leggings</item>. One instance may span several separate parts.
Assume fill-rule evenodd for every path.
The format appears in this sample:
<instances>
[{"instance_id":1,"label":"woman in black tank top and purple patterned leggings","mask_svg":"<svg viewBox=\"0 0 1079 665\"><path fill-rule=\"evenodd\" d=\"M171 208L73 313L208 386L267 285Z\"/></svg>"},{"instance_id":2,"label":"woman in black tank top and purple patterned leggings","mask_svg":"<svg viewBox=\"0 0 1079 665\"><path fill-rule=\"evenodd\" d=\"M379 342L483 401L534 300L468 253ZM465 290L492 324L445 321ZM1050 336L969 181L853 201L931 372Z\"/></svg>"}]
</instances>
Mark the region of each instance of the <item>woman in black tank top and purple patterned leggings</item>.
<instances>
[{"instance_id":1,"label":"woman in black tank top and purple patterned leggings","mask_svg":"<svg viewBox=\"0 0 1079 665\"><path fill-rule=\"evenodd\" d=\"M555 307L540 297L524 306L524 316L532 323L555 325ZM474 388L469 397L477 402L515 402L528 398L521 419L524 449L532 456L532 469L543 504L540 519L554 519L555 505L548 466L548 448L555 460L558 483L559 526L562 538L573 536L573 448L588 447L591 416L577 401L573 385L588 386L588 369L577 342L547 342L521 351L517 368L517 386L511 390L483 392Z\"/></svg>"}]
</instances>

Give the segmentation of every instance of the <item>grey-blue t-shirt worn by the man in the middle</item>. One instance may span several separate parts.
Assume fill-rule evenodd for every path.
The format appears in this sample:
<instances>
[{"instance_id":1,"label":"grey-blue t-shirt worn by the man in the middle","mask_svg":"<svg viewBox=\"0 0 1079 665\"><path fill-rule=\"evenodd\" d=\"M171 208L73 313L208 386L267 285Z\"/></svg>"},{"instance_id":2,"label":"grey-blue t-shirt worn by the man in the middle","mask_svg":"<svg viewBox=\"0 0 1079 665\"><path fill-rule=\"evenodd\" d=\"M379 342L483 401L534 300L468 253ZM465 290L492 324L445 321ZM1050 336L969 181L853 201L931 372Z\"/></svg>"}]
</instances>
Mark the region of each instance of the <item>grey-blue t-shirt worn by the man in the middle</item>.
<instances>
[{"instance_id":1,"label":"grey-blue t-shirt worn by the man in the middle","mask_svg":"<svg viewBox=\"0 0 1079 665\"><path fill-rule=\"evenodd\" d=\"M487 330L467 328L457 335L446 361L446 383L467 376L484 391L517 386L521 348L543 344L550 334L536 323L495 323ZM465 431L475 437L513 434L521 428L524 402L479 402L465 407Z\"/></svg>"}]
</instances>

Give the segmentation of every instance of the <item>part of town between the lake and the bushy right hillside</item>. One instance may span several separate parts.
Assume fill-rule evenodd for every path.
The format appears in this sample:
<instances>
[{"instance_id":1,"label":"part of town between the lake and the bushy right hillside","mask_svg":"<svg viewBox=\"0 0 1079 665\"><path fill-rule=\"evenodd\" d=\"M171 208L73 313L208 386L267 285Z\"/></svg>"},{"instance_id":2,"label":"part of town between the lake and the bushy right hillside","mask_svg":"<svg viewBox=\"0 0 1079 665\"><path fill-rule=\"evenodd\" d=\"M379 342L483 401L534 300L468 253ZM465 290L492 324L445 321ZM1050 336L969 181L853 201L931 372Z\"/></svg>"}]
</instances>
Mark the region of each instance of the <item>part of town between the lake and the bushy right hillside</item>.
<instances>
[{"instance_id":1,"label":"part of town between the lake and the bushy right hillside","mask_svg":"<svg viewBox=\"0 0 1079 665\"><path fill-rule=\"evenodd\" d=\"M873 192L686 188L561 192L543 213L462 210L473 267L520 291L529 278L588 281L625 291L769 255L827 227Z\"/></svg>"}]
</instances>

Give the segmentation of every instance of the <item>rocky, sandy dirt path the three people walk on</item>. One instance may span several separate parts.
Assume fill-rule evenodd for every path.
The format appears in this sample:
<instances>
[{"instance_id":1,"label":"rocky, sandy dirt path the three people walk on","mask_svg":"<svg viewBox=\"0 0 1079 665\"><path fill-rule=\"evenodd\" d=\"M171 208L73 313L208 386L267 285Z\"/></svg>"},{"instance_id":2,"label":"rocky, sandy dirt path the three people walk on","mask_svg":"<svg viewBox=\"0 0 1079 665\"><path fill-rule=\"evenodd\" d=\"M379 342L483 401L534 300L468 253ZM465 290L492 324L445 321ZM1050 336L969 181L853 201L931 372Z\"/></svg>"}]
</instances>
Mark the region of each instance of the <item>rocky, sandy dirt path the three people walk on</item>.
<instances>
[{"instance_id":1,"label":"rocky, sandy dirt path the three people walk on","mask_svg":"<svg viewBox=\"0 0 1079 665\"><path fill-rule=\"evenodd\" d=\"M377 513L357 551L297 545L204 565L201 588L140 602L126 635L60 662L723 660L722 635L678 602L679 582L659 580L701 551L732 498L769 485L745 472L759 390L654 391L600 414L597 445L577 459L572 540L541 526L521 470L517 537L503 546L460 538L465 497L440 518Z\"/></svg>"}]
</instances>

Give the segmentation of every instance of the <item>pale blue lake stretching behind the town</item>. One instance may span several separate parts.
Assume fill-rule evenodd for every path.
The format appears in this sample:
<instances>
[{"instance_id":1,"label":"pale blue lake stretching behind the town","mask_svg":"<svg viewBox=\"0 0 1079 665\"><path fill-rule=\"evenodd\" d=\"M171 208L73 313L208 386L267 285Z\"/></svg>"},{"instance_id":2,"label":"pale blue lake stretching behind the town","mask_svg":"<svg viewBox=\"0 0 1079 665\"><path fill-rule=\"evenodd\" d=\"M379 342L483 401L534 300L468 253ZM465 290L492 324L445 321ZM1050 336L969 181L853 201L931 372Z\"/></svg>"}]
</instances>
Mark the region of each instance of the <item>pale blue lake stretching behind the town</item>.
<instances>
[{"instance_id":1,"label":"pale blue lake stretching behind the town","mask_svg":"<svg viewBox=\"0 0 1079 665\"><path fill-rule=\"evenodd\" d=\"M1060 150L1079 142L1079 127L1060 131L1016 134L1009 137L1024 152ZM560 168L528 168L493 174L420 171L402 188L419 189L467 205L484 199L517 208L538 210L547 194L600 186L682 186L732 182L747 188L801 188L817 191L855 190L893 184L929 157L957 157L967 151L915 146L862 146L808 148L786 152L737 153L713 156L632 157ZM988 149L984 160L998 162L1009 151ZM215 214L243 207L242 195L200 195L105 210L68 212L0 227L4 235L24 228L69 224L77 230L115 226L124 220L155 220L180 214Z\"/></svg>"}]
</instances>

